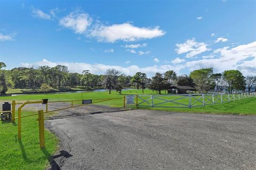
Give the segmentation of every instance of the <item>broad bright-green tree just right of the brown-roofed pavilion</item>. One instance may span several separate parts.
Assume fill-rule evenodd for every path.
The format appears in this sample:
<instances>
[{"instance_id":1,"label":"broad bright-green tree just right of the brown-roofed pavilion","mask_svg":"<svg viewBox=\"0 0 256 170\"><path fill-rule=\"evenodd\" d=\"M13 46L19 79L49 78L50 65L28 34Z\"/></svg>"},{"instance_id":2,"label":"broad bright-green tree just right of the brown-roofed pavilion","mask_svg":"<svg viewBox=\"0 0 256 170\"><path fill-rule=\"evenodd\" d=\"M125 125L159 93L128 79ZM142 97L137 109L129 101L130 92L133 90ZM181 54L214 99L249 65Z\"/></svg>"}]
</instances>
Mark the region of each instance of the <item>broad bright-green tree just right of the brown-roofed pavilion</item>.
<instances>
[{"instance_id":1,"label":"broad bright-green tree just right of the brown-roofed pavilion","mask_svg":"<svg viewBox=\"0 0 256 170\"><path fill-rule=\"evenodd\" d=\"M213 68L194 70L190 73L191 79L196 84L199 92L205 92L211 88Z\"/></svg>"}]
</instances>

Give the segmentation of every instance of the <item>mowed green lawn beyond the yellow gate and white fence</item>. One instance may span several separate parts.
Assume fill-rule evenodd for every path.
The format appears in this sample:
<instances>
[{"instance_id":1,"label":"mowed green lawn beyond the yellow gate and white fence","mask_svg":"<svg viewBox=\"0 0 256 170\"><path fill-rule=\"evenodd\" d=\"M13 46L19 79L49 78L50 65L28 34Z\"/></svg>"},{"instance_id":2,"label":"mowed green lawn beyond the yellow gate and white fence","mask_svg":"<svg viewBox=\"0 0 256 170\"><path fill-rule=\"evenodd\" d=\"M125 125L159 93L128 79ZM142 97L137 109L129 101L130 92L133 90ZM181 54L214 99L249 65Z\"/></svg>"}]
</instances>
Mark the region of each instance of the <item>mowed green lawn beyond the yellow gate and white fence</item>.
<instances>
[{"instance_id":1,"label":"mowed green lawn beyond the yellow gate and white fence","mask_svg":"<svg viewBox=\"0 0 256 170\"><path fill-rule=\"evenodd\" d=\"M226 102L222 104L215 104L212 105L212 97L211 96L205 96L204 101L206 102L206 106L198 106L202 105L203 98L200 96L194 96L194 98L191 98L191 104L193 108L184 108L187 107L185 105L189 104L189 98L186 96L168 96L167 94L164 94L164 91L162 91L163 95L157 95L156 91L151 90L144 90L145 96L142 96L142 90L123 90L122 95L118 94L115 90L111 91L111 94L108 94L108 91L104 92L78 92L78 93L70 93L70 94L40 94L40 95L20 95L20 96L6 96L6 97L0 97L0 100L2 101L11 101L11 100L17 100L17 101L26 101L26 100L41 100L44 98L48 98L49 101L58 101L58 100L82 100L82 99L93 99L93 103L100 101L98 99L111 99L108 101L103 101L100 103L97 103L98 105L107 105L111 107L123 107L123 95L135 95L139 94L140 97L138 99L138 104L140 104L143 100L147 100L147 102L144 102L140 104L140 109L154 109L154 110L161 110L161 111L173 111L173 112L191 112L191 113L214 113L214 114L256 114L256 97L252 98L244 98L244 99L238 99L238 95L235 95L235 101ZM152 103L151 95L156 95L154 97L154 105L155 106L161 106L161 107L150 107ZM230 100L233 100L233 95L230 96ZM178 99L179 98L179 99ZM198 99L199 98L199 99ZM143 100L142 100L143 99ZM173 100L175 103L163 103L164 100ZM198 101L196 100L198 99ZM214 100L218 101L220 103L220 95L215 97ZM228 101L227 95L223 95L223 101ZM79 104L81 102L76 102L76 104ZM135 103L135 100L134 100ZM163 103L163 104L161 104ZM49 104L50 105L50 104ZM167 106L173 106L173 107L167 107ZM177 108L177 106L179 106ZM129 106L130 108L136 108L134 106Z\"/></svg>"}]
</instances>

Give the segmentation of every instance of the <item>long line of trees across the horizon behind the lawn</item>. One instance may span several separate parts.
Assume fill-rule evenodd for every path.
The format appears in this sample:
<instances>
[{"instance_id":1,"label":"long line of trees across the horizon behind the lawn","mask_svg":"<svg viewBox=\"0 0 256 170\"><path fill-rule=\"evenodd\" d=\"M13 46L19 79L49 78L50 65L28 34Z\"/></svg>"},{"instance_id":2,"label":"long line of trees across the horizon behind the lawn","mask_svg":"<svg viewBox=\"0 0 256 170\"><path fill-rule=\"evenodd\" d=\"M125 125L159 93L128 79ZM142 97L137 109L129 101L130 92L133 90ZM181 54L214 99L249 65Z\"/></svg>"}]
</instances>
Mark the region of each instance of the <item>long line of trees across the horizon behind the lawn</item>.
<instances>
[{"instance_id":1,"label":"long line of trees across the horizon behind the lawn","mask_svg":"<svg viewBox=\"0 0 256 170\"><path fill-rule=\"evenodd\" d=\"M180 75L173 70L165 73L157 72L154 77L148 78L146 73L137 72L132 77L125 75L116 69L108 69L105 74L92 74L90 70L84 70L82 74L71 73L68 67L57 65L55 67L40 66L16 67L11 70L4 70L5 63L0 62L0 93L5 94L8 88L38 89L50 91L66 87L77 86L91 89L103 87L109 90L115 89L120 94L125 87L141 89L148 88L161 94L162 90L168 90L172 86L190 86L198 92L223 92L231 93L234 90L249 90L256 83L256 76L247 76L238 70L226 70L223 73L213 73L213 68L199 69L190 72L189 75Z\"/></svg>"}]
</instances>

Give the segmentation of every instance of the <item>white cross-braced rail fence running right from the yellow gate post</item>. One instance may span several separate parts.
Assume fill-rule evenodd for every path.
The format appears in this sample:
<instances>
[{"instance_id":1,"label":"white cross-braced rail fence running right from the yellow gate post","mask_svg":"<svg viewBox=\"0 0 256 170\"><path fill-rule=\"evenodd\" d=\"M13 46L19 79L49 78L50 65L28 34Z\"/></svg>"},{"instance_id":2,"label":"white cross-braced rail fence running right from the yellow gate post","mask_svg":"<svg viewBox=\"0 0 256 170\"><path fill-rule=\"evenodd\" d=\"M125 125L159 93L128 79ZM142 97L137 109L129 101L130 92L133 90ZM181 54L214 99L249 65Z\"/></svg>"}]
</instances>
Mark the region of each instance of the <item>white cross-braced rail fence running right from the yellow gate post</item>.
<instances>
[{"instance_id":1,"label":"white cross-braced rail fence running right from the yellow gate post","mask_svg":"<svg viewBox=\"0 0 256 170\"><path fill-rule=\"evenodd\" d=\"M132 95L129 95L132 96ZM138 107L198 107L256 97L256 93L243 94L184 94L184 95L134 95Z\"/></svg>"}]
</instances>

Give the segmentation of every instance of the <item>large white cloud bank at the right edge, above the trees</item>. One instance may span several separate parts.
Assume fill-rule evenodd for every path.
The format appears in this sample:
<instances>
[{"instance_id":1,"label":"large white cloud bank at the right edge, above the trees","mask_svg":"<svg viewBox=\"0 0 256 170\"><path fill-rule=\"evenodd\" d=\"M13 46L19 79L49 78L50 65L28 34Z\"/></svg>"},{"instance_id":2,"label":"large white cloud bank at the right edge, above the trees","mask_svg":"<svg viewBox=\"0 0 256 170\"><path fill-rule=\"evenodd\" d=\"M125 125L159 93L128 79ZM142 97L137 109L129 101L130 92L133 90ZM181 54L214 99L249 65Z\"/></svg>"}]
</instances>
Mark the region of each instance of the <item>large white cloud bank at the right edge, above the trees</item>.
<instances>
[{"instance_id":1,"label":"large white cloud bank at the right edge, above the trees","mask_svg":"<svg viewBox=\"0 0 256 170\"><path fill-rule=\"evenodd\" d=\"M213 67L215 72L237 69L244 75L256 75L256 41L234 48L223 47L214 51L215 58L190 61L185 64L191 70Z\"/></svg>"}]
</instances>

